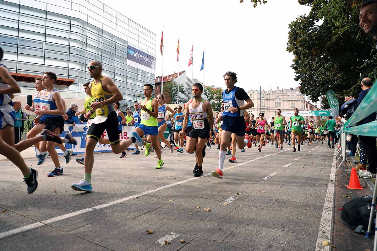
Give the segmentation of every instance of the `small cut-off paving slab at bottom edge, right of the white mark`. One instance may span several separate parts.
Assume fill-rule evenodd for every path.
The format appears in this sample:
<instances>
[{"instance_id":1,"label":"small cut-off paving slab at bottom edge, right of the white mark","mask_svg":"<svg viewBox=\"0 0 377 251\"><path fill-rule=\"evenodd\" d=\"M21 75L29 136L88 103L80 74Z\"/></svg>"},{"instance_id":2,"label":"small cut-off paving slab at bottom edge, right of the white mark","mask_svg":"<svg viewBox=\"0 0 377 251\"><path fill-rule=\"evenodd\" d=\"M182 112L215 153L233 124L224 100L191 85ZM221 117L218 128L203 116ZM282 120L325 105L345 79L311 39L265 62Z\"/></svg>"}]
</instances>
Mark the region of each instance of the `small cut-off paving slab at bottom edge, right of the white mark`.
<instances>
[{"instance_id":1,"label":"small cut-off paving slab at bottom edge, right of the white mark","mask_svg":"<svg viewBox=\"0 0 377 251\"><path fill-rule=\"evenodd\" d=\"M236 248L234 246L225 245L218 242L213 242L210 240L204 240L200 238L195 238L183 248L179 249L179 251L192 251L192 250L205 250L205 251L242 251L245 249Z\"/></svg>"}]
</instances>

